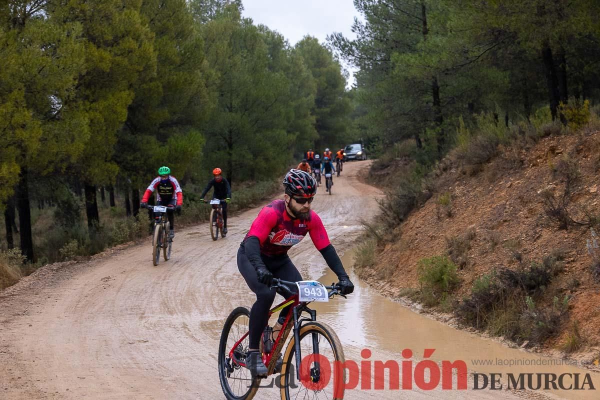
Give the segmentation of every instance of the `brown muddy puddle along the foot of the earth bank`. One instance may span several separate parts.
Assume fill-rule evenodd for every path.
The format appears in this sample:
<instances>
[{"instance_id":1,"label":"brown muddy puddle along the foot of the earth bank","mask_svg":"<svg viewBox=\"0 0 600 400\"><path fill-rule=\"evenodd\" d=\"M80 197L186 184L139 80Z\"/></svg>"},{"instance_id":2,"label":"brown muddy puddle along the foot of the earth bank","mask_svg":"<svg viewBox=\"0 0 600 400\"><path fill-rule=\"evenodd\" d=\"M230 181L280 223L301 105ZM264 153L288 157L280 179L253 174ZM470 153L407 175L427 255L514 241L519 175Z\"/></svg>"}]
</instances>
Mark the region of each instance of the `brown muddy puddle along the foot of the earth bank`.
<instances>
[{"instance_id":1,"label":"brown muddy puddle along the foot of the earth bank","mask_svg":"<svg viewBox=\"0 0 600 400\"><path fill-rule=\"evenodd\" d=\"M342 260L346 269L352 270L350 267L353 262L352 251L346 252ZM320 277L319 281L329 284L336 280L331 270L326 269L324 273L325 275ZM359 349L368 348L373 351L373 354L383 353L389 355L389 359L401 362L404 360L401 355L402 350L409 348L414 354L412 359L418 362L423 357L424 349L435 349L429 358L436 362L463 360L469 372L486 374L488 378L490 374L502 374L500 379L500 383L504 385L502 392L506 392L509 374L512 374L515 379L518 379L518 374L533 374L533 387L537 384L536 374L556 374L557 387L559 387L558 377L561 374L572 374L563 375L563 387L571 385L575 387L575 374L579 374L577 386L581 387L586 374L589 374L596 390L589 390L590 386L586 384L584 386L586 390L550 389L536 390L535 393L560 399L600 398L600 374L597 372L578 368L568 360L552 359L517 348L509 348L491 339L447 326L417 314L400 303L386 299L356 276L351 275L351 279L356 286L354 293L348 299L337 298L329 303L313 303L319 320L334 328L344 344L345 352L349 345ZM356 354L356 351L349 351L349 353ZM356 356L353 359L356 362L362 360ZM387 359L382 361L385 362ZM473 389L473 380L473 376L467 379L469 392ZM542 377L542 387L544 380L545 377ZM524 382L527 387L527 375L524 376ZM479 377L480 386L482 383L483 378ZM551 384L548 387L552 387ZM489 384L484 390L490 390ZM523 391L521 393L526 395ZM457 392L457 395L460 395L460 392Z\"/></svg>"}]
</instances>

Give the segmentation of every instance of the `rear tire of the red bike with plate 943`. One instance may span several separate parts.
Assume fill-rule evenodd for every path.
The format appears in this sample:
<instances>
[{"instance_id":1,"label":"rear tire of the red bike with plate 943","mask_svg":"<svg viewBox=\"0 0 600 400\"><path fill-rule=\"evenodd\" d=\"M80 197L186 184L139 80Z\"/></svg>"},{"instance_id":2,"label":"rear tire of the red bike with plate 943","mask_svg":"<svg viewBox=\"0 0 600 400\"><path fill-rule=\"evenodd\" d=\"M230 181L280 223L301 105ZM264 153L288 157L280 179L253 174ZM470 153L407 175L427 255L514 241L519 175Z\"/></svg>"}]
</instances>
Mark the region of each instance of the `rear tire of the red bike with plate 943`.
<instances>
[{"instance_id":1,"label":"rear tire of the red bike with plate 943","mask_svg":"<svg viewBox=\"0 0 600 400\"><path fill-rule=\"evenodd\" d=\"M236 309L234 309L229 316L227 317L227 320L225 321L225 324L223 325L223 330L221 331L221 339L219 340L219 354L218 354L218 371L219 371L219 381L221 383L221 389L223 390L223 394L225 395L225 397L227 398L227 400L251 400L254 395L256 395L257 390L259 389L259 384L260 384L260 378L256 378L256 379L252 379L251 375L250 375L250 371L240 365L235 365L233 366L233 373L235 373L238 377L239 377L239 389L242 389L242 385L245 384L245 382L251 381L251 385L250 387L248 387L248 390L244 393L240 393L240 394L236 394L234 393L235 387L238 385L237 383L234 383L234 388L231 387L229 380L231 378L231 376L227 376L227 359L229 359L229 350L230 347L239 340L239 338L241 338L241 335L244 335L244 333L247 331L247 329L245 329L244 327L242 327L241 332L239 332L238 329L238 336L235 336L234 333L234 337L232 338L232 341L228 344L227 343L227 339L229 339L229 333L232 330L233 324L235 323L235 321L238 318L247 318L248 323L250 322L250 310L248 308L245 307L238 307ZM244 341L242 342L242 348L240 350L243 350L244 352L248 350L248 347L250 346L250 338L247 336L246 339L244 339ZM232 374L232 372L229 372L229 374ZM243 378L242 378L243 376ZM233 378L235 379L235 378Z\"/></svg>"}]
</instances>

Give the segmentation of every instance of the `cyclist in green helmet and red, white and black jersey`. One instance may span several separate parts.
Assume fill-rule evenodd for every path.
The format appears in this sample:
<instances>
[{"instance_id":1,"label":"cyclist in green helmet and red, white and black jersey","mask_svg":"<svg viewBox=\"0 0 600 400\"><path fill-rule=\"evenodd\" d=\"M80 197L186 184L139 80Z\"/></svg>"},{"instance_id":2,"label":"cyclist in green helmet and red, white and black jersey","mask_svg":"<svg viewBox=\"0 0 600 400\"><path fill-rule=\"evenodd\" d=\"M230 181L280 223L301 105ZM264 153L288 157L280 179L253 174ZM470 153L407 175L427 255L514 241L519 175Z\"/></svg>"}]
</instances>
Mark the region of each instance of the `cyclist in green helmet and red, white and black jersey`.
<instances>
[{"instance_id":1,"label":"cyclist in green helmet and red, white and black jersey","mask_svg":"<svg viewBox=\"0 0 600 400\"><path fill-rule=\"evenodd\" d=\"M170 175L171 170L169 167L160 167L158 169L158 176L154 178L154 181L146 189L140 207L146 207L148 200L152 193L157 191L157 206L167 206L167 218L169 218L169 237L173 239L175 237L175 217L173 216L173 210L181 212L181 205L184 203L184 194L181 191L179 182L175 179L175 176Z\"/></svg>"}]
</instances>

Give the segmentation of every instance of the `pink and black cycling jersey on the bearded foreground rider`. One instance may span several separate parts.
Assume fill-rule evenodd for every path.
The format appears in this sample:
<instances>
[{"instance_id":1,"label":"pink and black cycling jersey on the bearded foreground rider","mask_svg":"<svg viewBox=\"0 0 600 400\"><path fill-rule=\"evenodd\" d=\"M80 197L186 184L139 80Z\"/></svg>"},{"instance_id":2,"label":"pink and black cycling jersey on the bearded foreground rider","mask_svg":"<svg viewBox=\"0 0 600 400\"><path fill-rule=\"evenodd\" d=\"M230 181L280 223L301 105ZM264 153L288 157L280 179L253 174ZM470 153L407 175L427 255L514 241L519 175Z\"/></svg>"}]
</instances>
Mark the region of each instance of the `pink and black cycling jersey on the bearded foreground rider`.
<instances>
[{"instance_id":1,"label":"pink and black cycling jersey on the bearded foreground rider","mask_svg":"<svg viewBox=\"0 0 600 400\"><path fill-rule=\"evenodd\" d=\"M260 210L244 241L256 236L260 242L260 253L272 257L287 254L307 233L319 251L331 244L316 212L310 210L310 219L292 219L287 213L285 201L275 200Z\"/></svg>"}]
</instances>

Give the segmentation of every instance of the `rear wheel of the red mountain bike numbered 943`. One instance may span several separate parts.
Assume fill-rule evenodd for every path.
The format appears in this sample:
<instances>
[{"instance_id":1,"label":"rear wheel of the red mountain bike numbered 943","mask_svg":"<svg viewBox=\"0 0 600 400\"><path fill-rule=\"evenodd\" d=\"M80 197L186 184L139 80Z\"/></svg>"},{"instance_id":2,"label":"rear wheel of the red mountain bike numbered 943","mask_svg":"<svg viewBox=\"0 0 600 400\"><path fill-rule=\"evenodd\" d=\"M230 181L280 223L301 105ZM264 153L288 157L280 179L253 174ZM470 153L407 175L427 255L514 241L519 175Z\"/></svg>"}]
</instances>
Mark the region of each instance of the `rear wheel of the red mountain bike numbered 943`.
<instances>
[{"instance_id":1,"label":"rear wheel of the red mountain bike numbered 943","mask_svg":"<svg viewBox=\"0 0 600 400\"><path fill-rule=\"evenodd\" d=\"M219 341L219 380L221 389L228 400L250 400L259 389L260 379L252 378L250 369L239 365L229 357L233 345L248 332L250 324L250 310L245 307L234 309L223 326ZM245 339L234 350L238 359L245 358L250 347L250 337Z\"/></svg>"}]
</instances>

